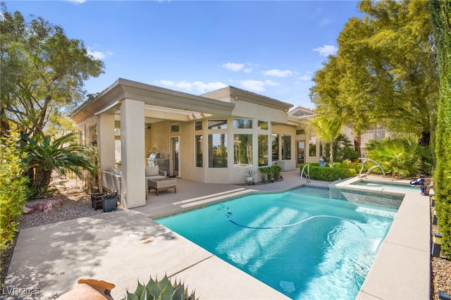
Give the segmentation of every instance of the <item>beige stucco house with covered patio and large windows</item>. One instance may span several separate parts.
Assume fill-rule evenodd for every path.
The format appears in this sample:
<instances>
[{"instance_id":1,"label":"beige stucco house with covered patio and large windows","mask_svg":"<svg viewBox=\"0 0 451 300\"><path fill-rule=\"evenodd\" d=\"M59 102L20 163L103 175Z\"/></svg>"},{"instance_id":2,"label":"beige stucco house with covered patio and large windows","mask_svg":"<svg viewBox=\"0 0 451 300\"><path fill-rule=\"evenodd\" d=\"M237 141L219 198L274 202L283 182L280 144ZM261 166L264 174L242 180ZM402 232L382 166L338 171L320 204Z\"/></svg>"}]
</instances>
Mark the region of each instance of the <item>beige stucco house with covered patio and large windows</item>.
<instances>
[{"instance_id":1,"label":"beige stucco house with covered patio and large windows","mask_svg":"<svg viewBox=\"0 0 451 300\"><path fill-rule=\"evenodd\" d=\"M71 117L80 144L97 145L99 174L121 162L121 203L132 208L146 204L151 153L168 175L208 183L244 183L248 168L273 163L292 170L317 162L302 121L314 114L290 108L236 87L197 96L119 78Z\"/></svg>"}]
</instances>

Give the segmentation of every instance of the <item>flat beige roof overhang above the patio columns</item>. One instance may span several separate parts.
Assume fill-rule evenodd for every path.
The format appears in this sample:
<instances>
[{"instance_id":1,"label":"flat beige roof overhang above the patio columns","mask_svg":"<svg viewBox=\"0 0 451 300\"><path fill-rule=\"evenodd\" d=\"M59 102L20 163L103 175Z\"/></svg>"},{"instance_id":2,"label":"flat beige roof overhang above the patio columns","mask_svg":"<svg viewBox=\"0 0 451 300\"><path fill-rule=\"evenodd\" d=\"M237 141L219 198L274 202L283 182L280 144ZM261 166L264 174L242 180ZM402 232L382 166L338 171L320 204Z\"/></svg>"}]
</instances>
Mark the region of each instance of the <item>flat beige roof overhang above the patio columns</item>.
<instances>
[{"instance_id":1,"label":"flat beige roof overhang above the patio columns","mask_svg":"<svg viewBox=\"0 0 451 300\"><path fill-rule=\"evenodd\" d=\"M85 101L72 115L75 123L81 123L94 115L109 111L114 113L120 109L121 101L132 99L143 101L147 111L162 113L166 108L173 115L179 115L182 120L192 120L194 116L231 115L235 104L196 96L172 89L164 89L154 85L119 78L110 87L92 99ZM167 115L166 118L169 116ZM195 119L195 118L194 118Z\"/></svg>"}]
</instances>

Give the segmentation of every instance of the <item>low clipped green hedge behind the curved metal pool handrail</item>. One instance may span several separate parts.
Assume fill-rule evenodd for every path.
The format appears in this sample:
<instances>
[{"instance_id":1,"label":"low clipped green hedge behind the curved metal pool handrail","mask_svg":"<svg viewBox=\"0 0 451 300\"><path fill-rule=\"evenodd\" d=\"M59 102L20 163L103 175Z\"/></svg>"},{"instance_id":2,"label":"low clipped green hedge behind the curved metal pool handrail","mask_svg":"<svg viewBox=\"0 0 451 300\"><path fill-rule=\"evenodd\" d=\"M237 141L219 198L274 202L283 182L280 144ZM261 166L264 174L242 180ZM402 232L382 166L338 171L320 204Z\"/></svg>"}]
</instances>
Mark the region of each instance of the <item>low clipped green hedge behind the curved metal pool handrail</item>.
<instances>
[{"instance_id":1,"label":"low clipped green hedge behind the curved metal pool handrail","mask_svg":"<svg viewBox=\"0 0 451 300\"><path fill-rule=\"evenodd\" d=\"M353 164L362 165L359 163ZM306 164L303 163L299 166L301 171L304 165ZM341 165L342 163L334 163L333 168L330 168L328 165L326 165L325 167L320 167L319 163L310 163L310 179L332 182L339 179L354 177L358 174L358 171L354 170L353 168L345 168ZM304 172L305 171L306 170L304 170Z\"/></svg>"}]
</instances>

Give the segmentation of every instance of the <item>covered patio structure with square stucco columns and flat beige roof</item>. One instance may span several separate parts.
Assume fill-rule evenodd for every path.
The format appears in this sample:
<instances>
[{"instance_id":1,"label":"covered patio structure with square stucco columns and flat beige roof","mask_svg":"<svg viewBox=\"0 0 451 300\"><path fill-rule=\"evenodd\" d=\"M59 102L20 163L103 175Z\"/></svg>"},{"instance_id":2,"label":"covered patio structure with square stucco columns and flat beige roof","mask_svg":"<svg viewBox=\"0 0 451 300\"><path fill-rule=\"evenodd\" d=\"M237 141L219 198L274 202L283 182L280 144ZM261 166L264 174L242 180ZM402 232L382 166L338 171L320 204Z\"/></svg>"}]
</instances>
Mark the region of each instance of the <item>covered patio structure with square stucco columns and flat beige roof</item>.
<instances>
[{"instance_id":1,"label":"covered patio structure with square stucco columns and flat beige roof","mask_svg":"<svg viewBox=\"0 0 451 300\"><path fill-rule=\"evenodd\" d=\"M144 166L147 163L145 158L152 148L152 144L146 144L146 130L165 120L187 122L212 114L230 115L234 107L234 104L226 101L119 78L111 87L82 104L72 118L76 123L83 124L83 139L89 139L90 144L97 145L100 190L101 172L116 166L115 130L117 132L119 127L121 203L124 208L133 208L146 204L142 192L146 189ZM159 132L154 135L156 139L159 138Z\"/></svg>"}]
</instances>

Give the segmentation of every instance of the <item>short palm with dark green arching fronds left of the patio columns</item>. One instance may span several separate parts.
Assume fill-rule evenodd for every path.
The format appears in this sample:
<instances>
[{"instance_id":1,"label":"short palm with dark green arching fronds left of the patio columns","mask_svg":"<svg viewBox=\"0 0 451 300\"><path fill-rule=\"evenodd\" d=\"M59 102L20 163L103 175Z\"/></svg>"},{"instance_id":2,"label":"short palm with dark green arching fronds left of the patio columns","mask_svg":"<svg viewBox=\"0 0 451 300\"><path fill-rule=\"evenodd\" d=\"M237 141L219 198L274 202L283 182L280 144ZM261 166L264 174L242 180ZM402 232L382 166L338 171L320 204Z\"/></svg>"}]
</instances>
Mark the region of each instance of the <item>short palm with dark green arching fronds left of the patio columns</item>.
<instances>
[{"instance_id":1,"label":"short palm with dark green arching fronds left of the patio columns","mask_svg":"<svg viewBox=\"0 0 451 300\"><path fill-rule=\"evenodd\" d=\"M27 144L27 167L32 171L32 188L35 194L42 196L50 185L54 170L72 171L83 179L82 170L88 170L95 176L96 166L91 161L92 149L78 145L75 133L63 135L52 140L51 136L23 137Z\"/></svg>"}]
</instances>

